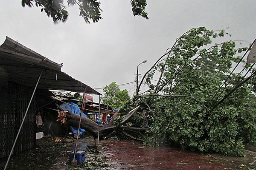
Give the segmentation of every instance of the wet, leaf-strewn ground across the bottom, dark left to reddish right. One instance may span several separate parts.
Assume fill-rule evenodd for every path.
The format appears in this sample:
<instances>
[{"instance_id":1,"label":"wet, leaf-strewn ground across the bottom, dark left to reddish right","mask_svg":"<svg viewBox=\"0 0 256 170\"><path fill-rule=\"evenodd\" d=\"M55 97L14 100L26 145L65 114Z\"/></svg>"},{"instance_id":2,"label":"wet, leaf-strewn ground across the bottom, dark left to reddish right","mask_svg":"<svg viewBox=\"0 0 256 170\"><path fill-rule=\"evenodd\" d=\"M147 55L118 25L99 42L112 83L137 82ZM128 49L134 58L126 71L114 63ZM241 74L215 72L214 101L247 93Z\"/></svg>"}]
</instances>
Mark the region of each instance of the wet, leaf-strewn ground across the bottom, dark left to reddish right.
<instances>
[{"instance_id":1,"label":"wet, leaf-strewn ground across the bottom, dark left to reddish right","mask_svg":"<svg viewBox=\"0 0 256 170\"><path fill-rule=\"evenodd\" d=\"M55 142L61 139L61 142ZM154 147L133 140L103 140L102 150L87 149L91 137L79 140L78 150L86 151L82 164L70 164L69 153L75 141L49 137L37 140L37 147L15 156L8 170L256 170L256 152L246 150L247 157L221 156L183 151L175 147ZM0 160L0 170L6 159Z\"/></svg>"}]
</instances>

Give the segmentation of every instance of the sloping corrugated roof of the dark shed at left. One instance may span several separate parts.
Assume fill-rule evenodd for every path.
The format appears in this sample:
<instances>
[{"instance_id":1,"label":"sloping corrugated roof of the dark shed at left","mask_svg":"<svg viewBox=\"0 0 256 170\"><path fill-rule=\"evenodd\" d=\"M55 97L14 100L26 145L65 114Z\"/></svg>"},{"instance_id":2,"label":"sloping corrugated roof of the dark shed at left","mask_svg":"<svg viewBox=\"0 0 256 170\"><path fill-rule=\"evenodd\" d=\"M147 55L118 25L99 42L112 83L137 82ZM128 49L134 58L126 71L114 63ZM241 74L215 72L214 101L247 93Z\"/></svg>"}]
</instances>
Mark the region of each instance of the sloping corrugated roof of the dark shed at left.
<instances>
[{"instance_id":1,"label":"sloping corrugated roof of the dark shed at left","mask_svg":"<svg viewBox=\"0 0 256 170\"><path fill-rule=\"evenodd\" d=\"M0 78L34 88L43 70L39 89L85 92L100 94L93 88L61 71L57 64L32 51L19 42L6 37L0 45Z\"/></svg>"}]
</instances>

